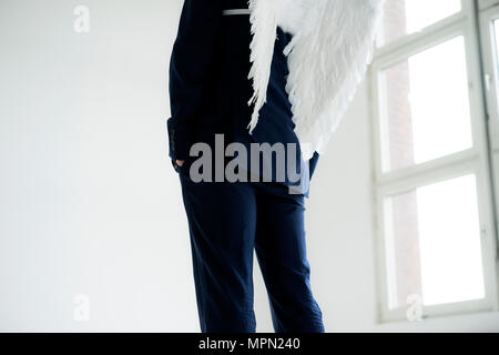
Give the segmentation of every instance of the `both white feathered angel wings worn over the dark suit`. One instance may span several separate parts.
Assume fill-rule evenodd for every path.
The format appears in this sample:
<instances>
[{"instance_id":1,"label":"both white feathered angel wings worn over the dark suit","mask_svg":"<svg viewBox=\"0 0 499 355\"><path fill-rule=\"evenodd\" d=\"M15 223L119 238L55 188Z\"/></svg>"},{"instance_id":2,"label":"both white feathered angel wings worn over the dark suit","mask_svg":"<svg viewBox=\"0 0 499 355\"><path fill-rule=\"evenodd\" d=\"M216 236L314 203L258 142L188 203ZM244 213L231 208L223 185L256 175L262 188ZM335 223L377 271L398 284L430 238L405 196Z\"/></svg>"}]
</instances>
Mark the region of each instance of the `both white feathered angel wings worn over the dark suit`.
<instances>
[{"instance_id":1,"label":"both white feathered angel wings worn over the dark suit","mask_svg":"<svg viewBox=\"0 0 499 355\"><path fill-rule=\"evenodd\" d=\"M255 102L249 132L266 100L276 28L293 33L285 49L286 91L304 159L324 153L366 68L385 0L249 0Z\"/></svg>"}]
</instances>

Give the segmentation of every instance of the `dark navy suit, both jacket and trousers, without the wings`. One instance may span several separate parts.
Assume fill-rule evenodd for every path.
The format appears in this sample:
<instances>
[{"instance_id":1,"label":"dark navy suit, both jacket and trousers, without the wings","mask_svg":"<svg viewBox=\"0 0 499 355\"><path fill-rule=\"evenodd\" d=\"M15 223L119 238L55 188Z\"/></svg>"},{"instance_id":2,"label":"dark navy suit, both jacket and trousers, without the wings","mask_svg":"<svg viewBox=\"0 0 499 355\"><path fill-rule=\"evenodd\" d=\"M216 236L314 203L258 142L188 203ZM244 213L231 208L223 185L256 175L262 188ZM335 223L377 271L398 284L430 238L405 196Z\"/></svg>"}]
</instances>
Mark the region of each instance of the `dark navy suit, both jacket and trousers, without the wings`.
<instances>
[{"instance_id":1,"label":"dark navy suit, both jacket and trousers, without the wings","mask_svg":"<svg viewBox=\"0 0 499 355\"><path fill-rule=\"evenodd\" d=\"M302 160L285 92L288 73L282 53L291 40L278 29L267 102L253 134L249 72L251 23L245 0L185 0L170 65L172 118L170 156L179 172L187 214L194 281L203 332L254 332L253 251L265 280L276 332L324 332L322 312L309 285L304 211L318 154ZM278 182L200 182L190 178L195 142L296 143L293 159L303 170L301 193ZM182 166L174 161L184 160ZM302 162L303 164L299 164ZM275 171L275 162L268 162ZM247 166L251 171L251 168Z\"/></svg>"}]
</instances>

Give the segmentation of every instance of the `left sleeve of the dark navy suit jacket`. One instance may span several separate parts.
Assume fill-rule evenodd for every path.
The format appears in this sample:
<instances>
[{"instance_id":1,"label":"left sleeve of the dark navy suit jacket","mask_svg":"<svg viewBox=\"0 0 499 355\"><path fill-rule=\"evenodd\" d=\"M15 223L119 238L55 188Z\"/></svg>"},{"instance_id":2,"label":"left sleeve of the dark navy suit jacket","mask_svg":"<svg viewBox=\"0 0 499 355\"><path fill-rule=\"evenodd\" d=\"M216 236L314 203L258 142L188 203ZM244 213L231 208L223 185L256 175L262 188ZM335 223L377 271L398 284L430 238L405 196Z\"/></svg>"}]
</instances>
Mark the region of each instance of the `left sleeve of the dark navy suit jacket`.
<instances>
[{"instance_id":1,"label":"left sleeve of the dark navy suit jacket","mask_svg":"<svg viewBox=\"0 0 499 355\"><path fill-rule=\"evenodd\" d=\"M167 120L170 156L185 160L193 125L212 74L214 49L222 19L221 0L185 0L170 61Z\"/></svg>"}]
</instances>

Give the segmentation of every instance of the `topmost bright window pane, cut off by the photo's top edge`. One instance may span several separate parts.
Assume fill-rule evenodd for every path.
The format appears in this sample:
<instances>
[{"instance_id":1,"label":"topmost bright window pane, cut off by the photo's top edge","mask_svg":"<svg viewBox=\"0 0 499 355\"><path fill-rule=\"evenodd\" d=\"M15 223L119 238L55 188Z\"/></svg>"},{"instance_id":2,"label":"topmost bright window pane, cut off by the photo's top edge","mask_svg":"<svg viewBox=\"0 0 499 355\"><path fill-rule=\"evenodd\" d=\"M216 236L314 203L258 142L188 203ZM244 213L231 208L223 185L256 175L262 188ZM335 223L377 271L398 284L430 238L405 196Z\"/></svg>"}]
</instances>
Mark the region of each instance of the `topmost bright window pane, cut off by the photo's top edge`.
<instances>
[{"instance_id":1,"label":"topmost bright window pane, cut off by the photo's top edge","mask_svg":"<svg viewBox=\"0 0 499 355\"><path fill-rule=\"evenodd\" d=\"M378 45L417 32L461 11L460 0L386 0Z\"/></svg>"}]
</instances>

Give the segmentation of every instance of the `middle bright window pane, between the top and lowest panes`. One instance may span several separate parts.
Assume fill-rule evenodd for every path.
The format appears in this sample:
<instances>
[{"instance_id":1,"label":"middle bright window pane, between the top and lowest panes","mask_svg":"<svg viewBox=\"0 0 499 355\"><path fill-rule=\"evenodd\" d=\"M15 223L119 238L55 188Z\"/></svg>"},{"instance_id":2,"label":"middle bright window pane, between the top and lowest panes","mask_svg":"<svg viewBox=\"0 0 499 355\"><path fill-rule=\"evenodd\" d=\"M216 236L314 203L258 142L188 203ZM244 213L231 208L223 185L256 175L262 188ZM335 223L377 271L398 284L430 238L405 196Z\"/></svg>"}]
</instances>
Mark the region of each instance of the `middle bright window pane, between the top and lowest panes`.
<instances>
[{"instance_id":1,"label":"middle bright window pane, between the top and lowest panes","mask_svg":"<svg viewBox=\"0 0 499 355\"><path fill-rule=\"evenodd\" d=\"M380 83L384 172L472 146L462 37L381 71Z\"/></svg>"}]
</instances>

